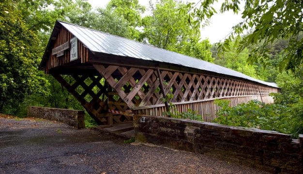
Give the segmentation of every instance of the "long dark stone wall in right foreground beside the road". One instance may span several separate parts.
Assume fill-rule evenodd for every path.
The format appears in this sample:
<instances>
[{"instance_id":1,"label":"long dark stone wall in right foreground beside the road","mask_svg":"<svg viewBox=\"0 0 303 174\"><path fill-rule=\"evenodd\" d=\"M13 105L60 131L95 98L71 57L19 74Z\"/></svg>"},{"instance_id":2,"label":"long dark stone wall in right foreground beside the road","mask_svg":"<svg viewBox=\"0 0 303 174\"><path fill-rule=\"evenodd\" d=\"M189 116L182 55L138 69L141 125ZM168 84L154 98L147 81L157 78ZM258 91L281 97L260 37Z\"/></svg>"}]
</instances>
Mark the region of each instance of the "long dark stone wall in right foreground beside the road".
<instances>
[{"instance_id":1,"label":"long dark stone wall in right foreground beside the road","mask_svg":"<svg viewBox=\"0 0 303 174\"><path fill-rule=\"evenodd\" d=\"M134 116L136 141L206 153L273 173L303 173L303 135L162 116ZM201 164L203 165L203 164Z\"/></svg>"}]
</instances>

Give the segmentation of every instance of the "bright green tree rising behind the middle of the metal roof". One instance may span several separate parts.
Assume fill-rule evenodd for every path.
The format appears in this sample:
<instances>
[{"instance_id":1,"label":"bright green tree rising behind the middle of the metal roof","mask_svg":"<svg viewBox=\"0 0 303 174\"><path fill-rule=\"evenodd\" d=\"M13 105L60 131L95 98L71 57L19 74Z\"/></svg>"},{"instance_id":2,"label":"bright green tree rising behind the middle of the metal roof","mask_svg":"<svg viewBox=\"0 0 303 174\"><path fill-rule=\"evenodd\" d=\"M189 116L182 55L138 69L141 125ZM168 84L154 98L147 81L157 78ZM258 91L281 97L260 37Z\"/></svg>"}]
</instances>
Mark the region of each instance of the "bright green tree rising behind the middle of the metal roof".
<instances>
[{"instance_id":1,"label":"bright green tree rising behind the middle of the metal roof","mask_svg":"<svg viewBox=\"0 0 303 174\"><path fill-rule=\"evenodd\" d=\"M142 40L181 54L213 61L208 40L199 41L200 34L193 32L187 22L185 4L176 0L160 0L153 6L152 15L143 18Z\"/></svg>"}]
</instances>

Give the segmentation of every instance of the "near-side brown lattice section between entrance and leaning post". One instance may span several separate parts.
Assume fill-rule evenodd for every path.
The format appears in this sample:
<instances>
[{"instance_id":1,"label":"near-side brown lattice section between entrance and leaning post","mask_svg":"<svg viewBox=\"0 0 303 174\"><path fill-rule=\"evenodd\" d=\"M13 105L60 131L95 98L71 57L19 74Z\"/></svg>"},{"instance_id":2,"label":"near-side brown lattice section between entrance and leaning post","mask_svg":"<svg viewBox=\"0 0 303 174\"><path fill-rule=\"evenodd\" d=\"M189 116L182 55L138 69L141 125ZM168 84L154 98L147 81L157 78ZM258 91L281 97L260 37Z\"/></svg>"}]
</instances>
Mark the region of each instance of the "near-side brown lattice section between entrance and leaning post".
<instances>
[{"instance_id":1,"label":"near-side brown lattice section between entrance and leaning post","mask_svg":"<svg viewBox=\"0 0 303 174\"><path fill-rule=\"evenodd\" d=\"M130 108L162 103L160 83L155 70L103 65L94 67ZM165 73L161 76L163 78Z\"/></svg>"}]
</instances>

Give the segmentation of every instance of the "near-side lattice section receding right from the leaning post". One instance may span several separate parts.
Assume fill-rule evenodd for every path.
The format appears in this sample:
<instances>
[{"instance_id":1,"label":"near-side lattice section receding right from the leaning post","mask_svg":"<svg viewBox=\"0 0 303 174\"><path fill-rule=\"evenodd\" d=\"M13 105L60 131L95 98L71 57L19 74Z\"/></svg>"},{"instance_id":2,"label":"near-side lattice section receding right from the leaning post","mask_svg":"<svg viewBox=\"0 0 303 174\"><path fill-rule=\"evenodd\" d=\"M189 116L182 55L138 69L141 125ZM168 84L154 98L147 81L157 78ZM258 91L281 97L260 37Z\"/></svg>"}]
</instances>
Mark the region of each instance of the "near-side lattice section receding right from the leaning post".
<instances>
[{"instance_id":1,"label":"near-side lattice section receding right from the leaning post","mask_svg":"<svg viewBox=\"0 0 303 174\"><path fill-rule=\"evenodd\" d=\"M230 80L206 75L167 72L164 84L165 94L173 94L171 102L186 102L214 99L219 97L248 96L248 95L268 95L272 89L255 84ZM258 89L260 88L260 91ZM158 99L158 102L161 98Z\"/></svg>"}]
</instances>

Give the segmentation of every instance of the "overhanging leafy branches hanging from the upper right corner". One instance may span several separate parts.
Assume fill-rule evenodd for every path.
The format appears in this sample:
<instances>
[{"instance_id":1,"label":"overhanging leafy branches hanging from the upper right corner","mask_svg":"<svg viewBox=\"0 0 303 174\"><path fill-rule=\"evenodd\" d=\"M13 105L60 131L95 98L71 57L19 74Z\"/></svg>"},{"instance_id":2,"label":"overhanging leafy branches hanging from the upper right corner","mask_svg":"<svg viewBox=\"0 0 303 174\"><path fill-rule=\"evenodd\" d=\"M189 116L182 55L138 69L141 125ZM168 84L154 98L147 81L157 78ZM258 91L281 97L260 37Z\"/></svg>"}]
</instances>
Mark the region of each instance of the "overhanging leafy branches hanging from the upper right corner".
<instances>
[{"instance_id":1,"label":"overhanging leafy branches hanging from the upper right corner","mask_svg":"<svg viewBox=\"0 0 303 174\"><path fill-rule=\"evenodd\" d=\"M196 28L201 22L208 23L216 11L213 3L217 0L202 1L199 8L195 8L189 16L189 21L195 21ZM253 32L243 37L238 47L238 52L250 48L248 61L260 62L267 65L271 58L268 45L277 39L285 39L288 46L283 48L285 57L279 63L280 70L292 70L300 68L303 63L303 2L300 0L245 0L242 12L243 21L233 27L233 32L220 44L220 48L228 50L229 43L247 29ZM220 13L233 11L238 13L239 0L225 0L222 3ZM189 4L191 8L194 4Z\"/></svg>"}]
</instances>

